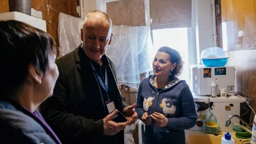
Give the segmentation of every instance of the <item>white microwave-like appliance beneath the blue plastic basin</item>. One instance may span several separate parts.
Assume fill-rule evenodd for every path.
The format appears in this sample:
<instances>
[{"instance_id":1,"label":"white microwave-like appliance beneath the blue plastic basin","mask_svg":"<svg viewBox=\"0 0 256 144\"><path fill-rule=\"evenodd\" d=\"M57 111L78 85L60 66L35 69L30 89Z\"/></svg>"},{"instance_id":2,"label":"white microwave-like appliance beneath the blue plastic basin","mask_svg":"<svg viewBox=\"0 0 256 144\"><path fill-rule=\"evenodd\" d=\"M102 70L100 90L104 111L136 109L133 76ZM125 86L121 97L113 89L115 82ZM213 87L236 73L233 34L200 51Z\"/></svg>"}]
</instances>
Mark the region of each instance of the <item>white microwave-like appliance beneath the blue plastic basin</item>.
<instances>
[{"instance_id":1,"label":"white microwave-like appliance beneath the blue plastic basin","mask_svg":"<svg viewBox=\"0 0 256 144\"><path fill-rule=\"evenodd\" d=\"M217 84L216 94L221 89L234 90L235 67L206 67L203 65L190 65L190 88L199 95L211 95L211 83ZM229 88L229 89L228 89Z\"/></svg>"}]
</instances>

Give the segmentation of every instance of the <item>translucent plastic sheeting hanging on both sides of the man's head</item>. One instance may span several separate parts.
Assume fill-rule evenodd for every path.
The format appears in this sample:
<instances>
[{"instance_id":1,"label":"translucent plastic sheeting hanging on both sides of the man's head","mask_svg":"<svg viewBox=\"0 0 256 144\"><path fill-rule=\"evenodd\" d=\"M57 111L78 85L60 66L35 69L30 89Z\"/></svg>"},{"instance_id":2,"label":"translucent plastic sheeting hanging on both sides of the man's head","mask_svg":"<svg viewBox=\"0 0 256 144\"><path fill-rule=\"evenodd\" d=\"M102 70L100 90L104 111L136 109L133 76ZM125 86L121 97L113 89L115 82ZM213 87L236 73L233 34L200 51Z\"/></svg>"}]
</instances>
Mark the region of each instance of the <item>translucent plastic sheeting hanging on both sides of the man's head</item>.
<instances>
[{"instance_id":1,"label":"translucent plastic sheeting hanging on both sides of the man's head","mask_svg":"<svg viewBox=\"0 0 256 144\"><path fill-rule=\"evenodd\" d=\"M58 20L58 38L60 41L60 56L75 50L82 43L80 38L81 18L60 13ZM140 74L152 70L153 52L150 37L150 27L128 27L112 25L112 42L106 50L106 55L116 66L119 85L124 84L136 88L140 83Z\"/></svg>"}]
</instances>

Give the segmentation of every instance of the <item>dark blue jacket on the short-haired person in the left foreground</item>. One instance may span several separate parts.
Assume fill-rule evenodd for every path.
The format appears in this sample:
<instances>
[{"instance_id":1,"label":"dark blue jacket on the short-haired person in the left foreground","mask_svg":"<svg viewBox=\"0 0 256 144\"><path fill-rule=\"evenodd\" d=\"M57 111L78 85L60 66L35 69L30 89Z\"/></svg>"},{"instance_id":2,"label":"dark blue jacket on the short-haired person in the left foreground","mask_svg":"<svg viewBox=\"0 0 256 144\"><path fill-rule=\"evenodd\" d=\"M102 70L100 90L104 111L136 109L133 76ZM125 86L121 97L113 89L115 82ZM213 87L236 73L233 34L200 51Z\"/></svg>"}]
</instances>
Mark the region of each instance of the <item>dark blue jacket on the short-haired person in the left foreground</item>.
<instances>
[{"instance_id":1,"label":"dark blue jacket on the short-haired person in the left foreground","mask_svg":"<svg viewBox=\"0 0 256 144\"><path fill-rule=\"evenodd\" d=\"M4 101L0 101L0 137L0 143L59 143L35 115Z\"/></svg>"}]
</instances>

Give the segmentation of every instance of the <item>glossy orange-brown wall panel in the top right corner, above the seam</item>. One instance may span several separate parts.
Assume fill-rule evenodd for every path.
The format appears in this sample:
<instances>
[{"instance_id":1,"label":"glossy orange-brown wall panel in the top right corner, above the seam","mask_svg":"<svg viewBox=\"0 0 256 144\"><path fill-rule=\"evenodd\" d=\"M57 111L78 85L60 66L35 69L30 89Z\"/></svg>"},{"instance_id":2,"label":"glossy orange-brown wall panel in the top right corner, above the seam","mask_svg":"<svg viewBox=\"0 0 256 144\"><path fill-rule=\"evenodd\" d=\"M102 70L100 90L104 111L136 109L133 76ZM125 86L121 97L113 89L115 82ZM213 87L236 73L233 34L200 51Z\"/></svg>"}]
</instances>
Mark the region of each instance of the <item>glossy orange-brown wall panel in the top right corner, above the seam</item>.
<instances>
[{"instance_id":1,"label":"glossy orange-brown wall panel in the top right corner, above the seam","mask_svg":"<svg viewBox=\"0 0 256 144\"><path fill-rule=\"evenodd\" d=\"M229 41L228 47L223 45L223 49L256 48L255 7L255 0L221 0L221 22L228 24L227 40ZM223 39L223 44L224 42Z\"/></svg>"}]
</instances>

